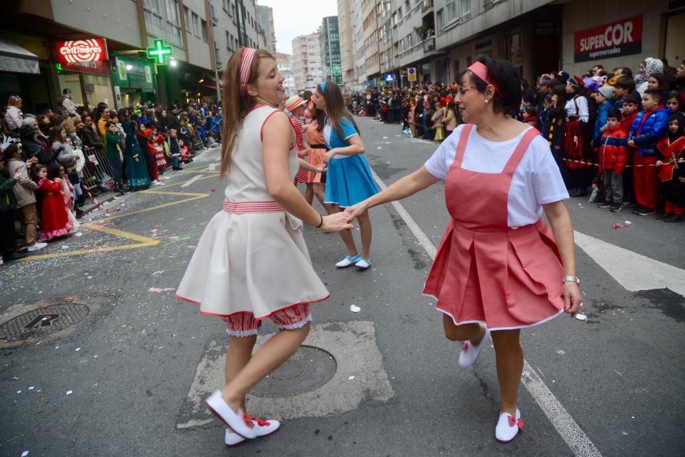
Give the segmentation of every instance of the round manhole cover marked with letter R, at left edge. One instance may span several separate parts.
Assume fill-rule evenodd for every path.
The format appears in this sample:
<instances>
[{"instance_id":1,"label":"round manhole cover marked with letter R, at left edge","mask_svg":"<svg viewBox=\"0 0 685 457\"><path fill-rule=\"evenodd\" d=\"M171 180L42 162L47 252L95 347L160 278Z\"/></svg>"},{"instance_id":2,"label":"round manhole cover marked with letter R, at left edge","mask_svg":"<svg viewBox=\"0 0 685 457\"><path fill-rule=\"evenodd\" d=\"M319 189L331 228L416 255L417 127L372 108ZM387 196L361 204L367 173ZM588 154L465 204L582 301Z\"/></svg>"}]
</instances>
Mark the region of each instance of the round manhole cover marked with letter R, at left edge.
<instances>
[{"instance_id":1,"label":"round manhole cover marked with letter R, at left edge","mask_svg":"<svg viewBox=\"0 0 685 457\"><path fill-rule=\"evenodd\" d=\"M83 320L88 311L88 306L78 303L34 309L0 325L0 339L32 339L58 332Z\"/></svg>"}]
</instances>

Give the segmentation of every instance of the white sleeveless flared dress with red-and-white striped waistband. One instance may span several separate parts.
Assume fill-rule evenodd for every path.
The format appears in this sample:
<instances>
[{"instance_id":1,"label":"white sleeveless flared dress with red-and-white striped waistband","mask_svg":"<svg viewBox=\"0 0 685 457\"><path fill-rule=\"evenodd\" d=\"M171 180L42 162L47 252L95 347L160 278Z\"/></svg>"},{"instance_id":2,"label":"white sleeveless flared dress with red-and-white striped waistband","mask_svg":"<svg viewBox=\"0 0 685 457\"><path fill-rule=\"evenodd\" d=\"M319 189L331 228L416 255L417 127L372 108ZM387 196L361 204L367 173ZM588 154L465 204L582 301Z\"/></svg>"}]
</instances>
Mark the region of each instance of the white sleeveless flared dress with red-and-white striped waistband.
<instances>
[{"instance_id":1,"label":"white sleeveless flared dress with red-and-white striped waistband","mask_svg":"<svg viewBox=\"0 0 685 457\"><path fill-rule=\"evenodd\" d=\"M238 133L224 209L207 225L176 296L200 312L256 319L297 304L320 302L329 293L314 272L302 222L266 192L262 126L278 110L263 106L247 114ZM290 151L290 182L299 168Z\"/></svg>"}]
</instances>

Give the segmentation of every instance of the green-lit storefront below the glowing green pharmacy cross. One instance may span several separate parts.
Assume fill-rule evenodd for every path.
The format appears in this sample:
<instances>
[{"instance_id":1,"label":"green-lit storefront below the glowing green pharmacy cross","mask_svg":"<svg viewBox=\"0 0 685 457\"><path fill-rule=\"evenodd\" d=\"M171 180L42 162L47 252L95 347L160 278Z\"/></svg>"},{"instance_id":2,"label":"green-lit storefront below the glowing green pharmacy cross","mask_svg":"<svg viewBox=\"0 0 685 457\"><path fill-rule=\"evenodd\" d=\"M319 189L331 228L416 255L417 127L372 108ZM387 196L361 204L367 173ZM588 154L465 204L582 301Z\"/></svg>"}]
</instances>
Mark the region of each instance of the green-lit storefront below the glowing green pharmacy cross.
<instances>
[{"instance_id":1,"label":"green-lit storefront below the glowing green pharmacy cross","mask_svg":"<svg viewBox=\"0 0 685 457\"><path fill-rule=\"evenodd\" d=\"M130 55L114 57L112 71L114 92L118 92L117 107L136 106L158 100L155 85L155 64Z\"/></svg>"}]
</instances>

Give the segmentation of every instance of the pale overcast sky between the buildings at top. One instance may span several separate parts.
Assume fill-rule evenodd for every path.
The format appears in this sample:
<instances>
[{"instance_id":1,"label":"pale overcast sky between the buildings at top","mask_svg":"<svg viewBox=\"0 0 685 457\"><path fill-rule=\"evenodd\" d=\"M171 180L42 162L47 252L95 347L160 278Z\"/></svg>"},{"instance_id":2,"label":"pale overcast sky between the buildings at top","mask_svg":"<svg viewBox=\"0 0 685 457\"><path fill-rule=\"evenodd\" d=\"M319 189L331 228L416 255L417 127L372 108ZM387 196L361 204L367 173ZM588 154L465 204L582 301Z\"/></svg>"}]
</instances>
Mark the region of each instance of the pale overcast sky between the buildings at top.
<instances>
[{"instance_id":1,"label":"pale overcast sky between the buildings at top","mask_svg":"<svg viewBox=\"0 0 685 457\"><path fill-rule=\"evenodd\" d=\"M258 5L273 8L276 50L292 54L292 38L312 34L326 16L338 16L336 0L257 0Z\"/></svg>"}]
</instances>

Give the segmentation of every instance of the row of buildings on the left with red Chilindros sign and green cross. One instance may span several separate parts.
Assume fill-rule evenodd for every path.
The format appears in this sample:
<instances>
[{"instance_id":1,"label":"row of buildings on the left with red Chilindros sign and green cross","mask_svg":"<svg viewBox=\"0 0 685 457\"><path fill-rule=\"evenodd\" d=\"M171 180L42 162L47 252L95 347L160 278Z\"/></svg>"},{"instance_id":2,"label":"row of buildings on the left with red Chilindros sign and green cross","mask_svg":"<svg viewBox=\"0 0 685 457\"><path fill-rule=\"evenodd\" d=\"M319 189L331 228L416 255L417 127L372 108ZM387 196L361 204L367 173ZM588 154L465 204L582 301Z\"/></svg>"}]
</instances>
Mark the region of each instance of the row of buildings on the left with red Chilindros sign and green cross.
<instances>
[{"instance_id":1,"label":"row of buildings on the left with red Chilindros sign and green cross","mask_svg":"<svg viewBox=\"0 0 685 457\"><path fill-rule=\"evenodd\" d=\"M0 99L21 94L27 113L58 109L65 88L75 105L88 109L101 101L110 107L215 101L215 68L229 56L215 40L221 37L216 27L222 16L230 21L232 8L255 17L253 0L17 0L3 6ZM256 20L243 24L236 35L256 42Z\"/></svg>"}]
</instances>

